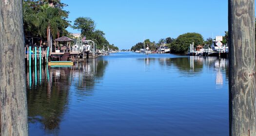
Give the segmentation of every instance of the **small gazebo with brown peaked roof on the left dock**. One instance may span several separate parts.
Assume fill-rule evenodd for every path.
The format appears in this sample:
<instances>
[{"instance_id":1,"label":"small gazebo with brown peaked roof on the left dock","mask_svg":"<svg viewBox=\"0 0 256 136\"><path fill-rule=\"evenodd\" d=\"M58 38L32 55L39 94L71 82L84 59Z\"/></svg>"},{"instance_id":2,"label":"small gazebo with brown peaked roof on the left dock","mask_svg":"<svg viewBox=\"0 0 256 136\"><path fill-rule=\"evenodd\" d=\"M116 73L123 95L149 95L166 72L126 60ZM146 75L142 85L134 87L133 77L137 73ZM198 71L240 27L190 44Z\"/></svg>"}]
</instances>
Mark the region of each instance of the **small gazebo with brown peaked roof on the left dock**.
<instances>
[{"instance_id":1,"label":"small gazebo with brown peaked roof on the left dock","mask_svg":"<svg viewBox=\"0 0 256 136\"><path fill-rule=\"evenodd\" d=\"M59 48L60 48L60 51L63 51L63 52L66 52L66 51L69 51L70 52L70 48L71 48L71 42L74 41L73 39L69 38L69 37L66 37L66 36L62 36L62 37L59 37L57 39L54 40L54 45L55 45L55 52L56 51L56 46L57 44L56 43L60 43L60 42L64 42L66 43L67 46L60 46L59 44ZM59 51L58 51L59 52Z\"/></svg>"}]
</instances>

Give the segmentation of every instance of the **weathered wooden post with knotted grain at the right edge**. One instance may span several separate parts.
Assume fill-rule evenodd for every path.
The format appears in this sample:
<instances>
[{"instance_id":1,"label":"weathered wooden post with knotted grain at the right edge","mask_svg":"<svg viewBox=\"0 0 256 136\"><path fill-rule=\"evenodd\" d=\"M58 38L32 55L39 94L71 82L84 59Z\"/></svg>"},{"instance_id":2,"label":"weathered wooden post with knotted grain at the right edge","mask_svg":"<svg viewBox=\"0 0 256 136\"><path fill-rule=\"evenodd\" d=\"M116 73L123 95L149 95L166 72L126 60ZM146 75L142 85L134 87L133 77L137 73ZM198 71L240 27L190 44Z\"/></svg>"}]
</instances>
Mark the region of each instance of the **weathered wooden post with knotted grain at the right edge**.
<instances>
[{"instance_id":1,"label":"weathered wooden post with knotted grain at the right edge","mask_svg":"<svg viewBox=\"0 0 256 136\"><path fill-rule=\"evenodd\" d=\"M230 136L256 136L255 0L228 1Z\"/></svg>"}]
</instances>

